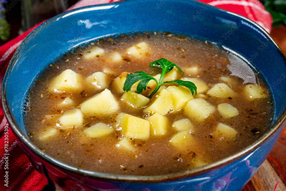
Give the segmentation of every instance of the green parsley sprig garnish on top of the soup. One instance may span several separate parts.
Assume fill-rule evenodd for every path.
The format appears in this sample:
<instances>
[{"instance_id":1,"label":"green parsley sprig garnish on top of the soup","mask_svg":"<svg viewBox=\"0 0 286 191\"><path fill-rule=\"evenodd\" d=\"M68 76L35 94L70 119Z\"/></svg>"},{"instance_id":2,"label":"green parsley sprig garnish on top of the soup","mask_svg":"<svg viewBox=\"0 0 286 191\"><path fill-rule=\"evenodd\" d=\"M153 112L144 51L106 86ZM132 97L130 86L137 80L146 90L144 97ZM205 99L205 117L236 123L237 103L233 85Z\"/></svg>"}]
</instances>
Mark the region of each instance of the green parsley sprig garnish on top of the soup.
<instances>
[{"instance_id":1,"label":"green parsley sprig garnish on top of the soup","mask_svg":"<svg viewBox=\"0 0 286 191\"><path fill-rule=\"evenodd\" d=\"M130 91L132 85L135 84L136 82L140 81L137 85L137 92L142 93L143 90L146 90L148 82L150 80L154 80L157 83L157 86L148 97L151 97L152 95L154 95L159 90L159 88L163 84L166 84L166 83L178 84L179 86L185 86L188 89L190 89L192 94L194 94L194 92L196 92L197 88L193 82L183 81L183 80L174 80L174 81L164 81L163 82L165 74L170 72L174 66L176 66L176 68L178 68L178 70L180 72L182 72L182 74L184 74L182 69L179 66L177 66L176 64L174 64L173 62L170 62L169 60L162 58L162 59L156 60L154 62L151 62L149 64L149 66L162 68L162 73L161 73L159 80L157 80L153 76L151 76L145 72L142 72L142 71L134 72L133 74L127 74L126 81L124 82L123 90L126 92ZM196 94L197 94L197 92L196 92Z\"/></svg>"}]
</instances>

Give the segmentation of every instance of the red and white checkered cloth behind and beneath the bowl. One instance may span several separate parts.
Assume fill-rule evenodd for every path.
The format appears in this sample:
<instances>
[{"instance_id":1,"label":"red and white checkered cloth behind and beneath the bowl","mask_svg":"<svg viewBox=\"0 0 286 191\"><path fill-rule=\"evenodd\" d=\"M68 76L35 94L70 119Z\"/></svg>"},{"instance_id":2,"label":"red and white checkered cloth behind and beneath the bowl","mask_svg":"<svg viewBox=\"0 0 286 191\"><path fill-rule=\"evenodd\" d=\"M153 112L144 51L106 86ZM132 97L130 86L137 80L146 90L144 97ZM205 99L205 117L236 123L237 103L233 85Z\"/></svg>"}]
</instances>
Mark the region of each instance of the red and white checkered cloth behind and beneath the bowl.
<instances>
[{"instance_id":1,"label":"red and white checkered cloth behind and beneath the bowl","mask_svg":"<svg viewBox=\"0 0 286 191\"><path fill-rule=\"evenodd\" d=\"M103 3L111 3L120 0L82 0L73 5L70 9L76 9L88 5L96 5ZM232 11L248 17L261 25L266 31L271 31L272 17L265 10L259 0L201 0L204 3L213 5L228 11ZM41 24L41 23L39 23ZM35 25L28 31L24 32L15 39L7 42L0 47L0 82L3 81L3 76L7 69L7 65L11 60L16 48L21 41L39 24ZM0 102L1 103L1 102ZM2 106L1 106L2 107ZM0 107L0 174L3 176L6 170L9 170L9 187L4 186L5 182L1 182L0 190L17 190L17 191L39 191L47 185L47 182L41 175L32 167L27 156L19 147L15 136L10 128L4 130L7 120ZM9 143L5 143L5 134L9 134ZM7 139L6 139L7 140ZM4 150L5 144L8 144L9 151ZM7 145L6 145L7 146ZM9 154L9 155L4 155ZM7 156L8 159L7 159ZM9 169L5 169L5 162L9 161ZM7 168L7 165L6 165ZM4 177L5 178L5 177ZM5 180L5 179L4 179Z\"/></svg>"}]
</instances>

